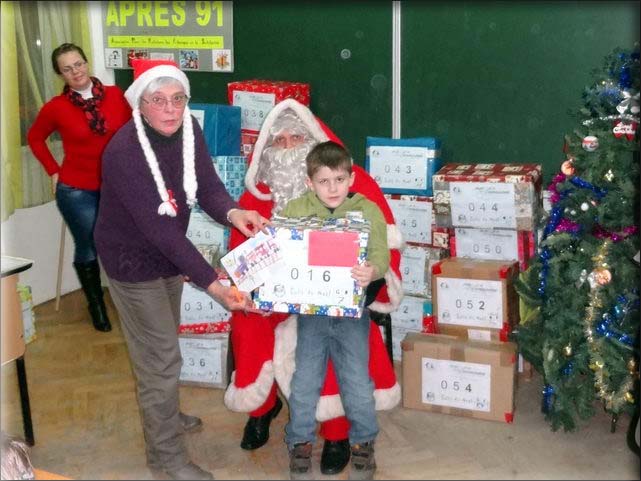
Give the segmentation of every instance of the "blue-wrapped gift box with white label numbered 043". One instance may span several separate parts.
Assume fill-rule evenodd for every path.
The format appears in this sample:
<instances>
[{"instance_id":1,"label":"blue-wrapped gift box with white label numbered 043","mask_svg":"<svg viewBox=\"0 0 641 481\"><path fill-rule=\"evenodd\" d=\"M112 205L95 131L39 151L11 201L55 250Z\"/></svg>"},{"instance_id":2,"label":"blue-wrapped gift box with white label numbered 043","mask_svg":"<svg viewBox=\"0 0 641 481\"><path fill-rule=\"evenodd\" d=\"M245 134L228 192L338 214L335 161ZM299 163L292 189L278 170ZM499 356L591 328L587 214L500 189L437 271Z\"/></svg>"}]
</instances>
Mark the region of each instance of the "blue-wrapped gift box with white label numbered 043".
<instances>
[{"instance_id":1,"label":"blue-wrapped gift box with white label numbered 043","mask_svg":"<svg viewBox=\"0 0 641 481\"><path fill-rule=\"evenodd\" d=\"M365 169L386 194L432 195L432 176L442 165L441 141L433 137L367 137Z\"/></svg>"}]
</instances>

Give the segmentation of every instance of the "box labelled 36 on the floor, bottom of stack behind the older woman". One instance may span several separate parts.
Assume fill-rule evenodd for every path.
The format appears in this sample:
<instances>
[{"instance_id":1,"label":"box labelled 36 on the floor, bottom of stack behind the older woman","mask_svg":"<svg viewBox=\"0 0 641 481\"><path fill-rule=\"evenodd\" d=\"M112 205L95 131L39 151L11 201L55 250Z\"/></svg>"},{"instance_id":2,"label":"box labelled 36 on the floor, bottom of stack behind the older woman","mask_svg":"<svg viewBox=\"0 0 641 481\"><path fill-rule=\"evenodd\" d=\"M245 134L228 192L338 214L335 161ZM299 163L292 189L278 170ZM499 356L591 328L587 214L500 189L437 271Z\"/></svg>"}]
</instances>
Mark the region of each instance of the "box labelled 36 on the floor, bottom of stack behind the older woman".
<instances>
[{"instance_id":1,"label":"box labelled 36 on the floor, bottom of stack behind the older woman","mask_svg":"<svg viewBox=\"0 0 641 481\"><path fill-rule=\"evenodd\" d=\"M180 334L181 384L225 389L228 384L229 334Z\"/></svg>"}]
</instances>

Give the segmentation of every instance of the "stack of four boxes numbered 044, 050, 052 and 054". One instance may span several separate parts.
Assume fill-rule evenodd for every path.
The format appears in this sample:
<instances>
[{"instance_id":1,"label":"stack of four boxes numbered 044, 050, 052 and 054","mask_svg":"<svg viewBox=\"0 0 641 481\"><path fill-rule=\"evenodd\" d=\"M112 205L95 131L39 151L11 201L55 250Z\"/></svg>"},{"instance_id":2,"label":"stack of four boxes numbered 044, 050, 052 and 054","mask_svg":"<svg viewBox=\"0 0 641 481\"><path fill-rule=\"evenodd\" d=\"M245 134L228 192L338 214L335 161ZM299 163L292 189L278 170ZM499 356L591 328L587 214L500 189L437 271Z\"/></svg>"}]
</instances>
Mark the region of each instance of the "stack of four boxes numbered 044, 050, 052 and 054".
<instances>
[{"instance_id":1,"label":"stack of four boxes numbered 044, 050, 052 and 054","mask_svg":"<svg viewBox=\"0 0 641 481\"><path fill-rule=\"evenodd\" d=\"M452 257L432 266L436 332L402 342L403 405L512 422L519 322L514 281L535 254L541 168L447 164L433 177L435 224Z\"/></svg>"}]
</instances>

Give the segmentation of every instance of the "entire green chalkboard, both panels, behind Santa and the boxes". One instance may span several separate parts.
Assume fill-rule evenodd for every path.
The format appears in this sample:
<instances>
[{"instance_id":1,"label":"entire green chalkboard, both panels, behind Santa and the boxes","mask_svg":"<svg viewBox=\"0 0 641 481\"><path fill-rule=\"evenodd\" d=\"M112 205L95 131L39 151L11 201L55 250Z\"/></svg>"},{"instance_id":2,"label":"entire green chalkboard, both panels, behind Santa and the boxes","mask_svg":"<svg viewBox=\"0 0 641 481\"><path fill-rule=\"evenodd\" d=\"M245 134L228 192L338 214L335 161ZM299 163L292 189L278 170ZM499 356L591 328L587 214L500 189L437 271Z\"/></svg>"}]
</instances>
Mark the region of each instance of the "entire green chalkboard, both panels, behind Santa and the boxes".
<instances>
[{"instance_id":1,"label":"entire green chalkboard, both panels, behind Santa and the boxes","mask_svg":"<svg viewBox=\"0 0 641 481\"><path fill-rule=\"evenodd\" d=\"M639 40L638 2L401 2L402 137L438 137L445 162L562 160L591 70ZM312 111L364 165L392 135L392 2L234 2L236 71L188 72L194 102L227 83L308 82ZM341 55L342 54L342 55ZM128 70L116 83L131 83Z\"/></svg>"}]
</instances>

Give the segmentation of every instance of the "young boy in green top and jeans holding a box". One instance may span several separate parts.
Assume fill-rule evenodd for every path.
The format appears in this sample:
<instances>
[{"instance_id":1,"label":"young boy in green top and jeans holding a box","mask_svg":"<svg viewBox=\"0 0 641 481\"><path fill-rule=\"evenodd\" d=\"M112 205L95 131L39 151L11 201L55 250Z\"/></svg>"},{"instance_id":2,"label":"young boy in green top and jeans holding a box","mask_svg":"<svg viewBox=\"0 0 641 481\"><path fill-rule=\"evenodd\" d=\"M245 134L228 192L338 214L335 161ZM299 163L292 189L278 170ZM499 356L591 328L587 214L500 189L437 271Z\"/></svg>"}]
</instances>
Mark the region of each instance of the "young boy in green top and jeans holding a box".
<instances>
[{"instance_id":1,"label":"young boy in green top and jeans holding a box","mask_svg":"<svg viewBox=\"0 0 641 481\"><path fill-rule=\"evenodd\" d=\"M354 183L349 152L335 142L323 142L306 159L309 191L290 201L280 215L302 217L346 217L360 212L370 222L367 261L352 268L352 277L366 288L383 277L389 265L387 224L378 206L363 195L350 193ZM365 305L374 296L366 293ZM375 293L374 293L375 294ZM345 415L350 421L352 462L349 479L372 479L376 470L374 439L378 423L374 385L369 376L368 309L359 319L351 317L299 315L296 371L289 397L290 421L285 427L291 479L312 479L311 454L316 440L316 404L328 358L339 383Z\"/></svg>"}]
</instances>

